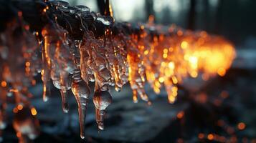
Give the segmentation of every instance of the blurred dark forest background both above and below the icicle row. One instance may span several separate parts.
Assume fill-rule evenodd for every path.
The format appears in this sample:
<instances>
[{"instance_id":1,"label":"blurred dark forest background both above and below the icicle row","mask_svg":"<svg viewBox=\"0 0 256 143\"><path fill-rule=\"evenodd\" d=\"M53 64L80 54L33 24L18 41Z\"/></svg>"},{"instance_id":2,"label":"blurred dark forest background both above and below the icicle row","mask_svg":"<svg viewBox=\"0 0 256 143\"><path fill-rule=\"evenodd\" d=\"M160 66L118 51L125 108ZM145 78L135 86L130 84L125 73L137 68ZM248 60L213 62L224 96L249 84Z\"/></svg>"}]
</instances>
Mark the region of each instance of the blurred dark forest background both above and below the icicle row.
<instances>
[{"instance_id":1,"label":"blurred dark forest background both above and below the icicle row","mask_svg":"<svg viewBox=\"0 0 256 143\"><path fill-rule=\"evenodd\" d=\"M67 1L102 12L101 0ZM98 132L90 101L86 142L256 142L255 0L110 0L110 4L115 21L146 23L153 15L156 24L222 35L234 44L237 58L225 77L208 82L187 79L179 85L174 104L168 103L164 89L156 95L148 84L151 106L141 101L134 104L128 84L120 93L112 89L113 104L107 109L104 131ZM52 88L46 103L42 102L42 84L30 90L41 125L41 135L34 142L84 142L71 93L70 112L65 114L57 89ZM17 142L11 125L8 129L6 142Z\"/></svg>"}]
</instances>

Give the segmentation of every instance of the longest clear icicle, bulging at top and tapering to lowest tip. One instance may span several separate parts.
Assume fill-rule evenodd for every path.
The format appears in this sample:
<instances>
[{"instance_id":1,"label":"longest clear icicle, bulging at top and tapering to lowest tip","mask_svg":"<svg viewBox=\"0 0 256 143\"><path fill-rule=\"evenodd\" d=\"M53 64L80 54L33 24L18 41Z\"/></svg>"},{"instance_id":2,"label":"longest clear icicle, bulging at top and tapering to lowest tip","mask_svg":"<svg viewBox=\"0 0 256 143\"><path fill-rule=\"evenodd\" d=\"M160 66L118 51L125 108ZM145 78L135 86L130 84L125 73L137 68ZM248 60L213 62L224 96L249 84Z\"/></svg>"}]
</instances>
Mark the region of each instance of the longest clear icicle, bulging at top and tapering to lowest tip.
<instances>
[{"instance_id":1,"label":"longest clear icicle, bulging at top and tapering to lowest tip","mask_svg":"<svg viewBox=\"0 0 256 143\"><path fill-rule=\"evenodd\" d=\"M75 95L78 105L79 123L80 123L80 137L85 138L85 117L87 102L89 100L90 88L85 81L82 80L80 70L75 70L73 74L72 92Z\"/></svg>"}]
</instances>

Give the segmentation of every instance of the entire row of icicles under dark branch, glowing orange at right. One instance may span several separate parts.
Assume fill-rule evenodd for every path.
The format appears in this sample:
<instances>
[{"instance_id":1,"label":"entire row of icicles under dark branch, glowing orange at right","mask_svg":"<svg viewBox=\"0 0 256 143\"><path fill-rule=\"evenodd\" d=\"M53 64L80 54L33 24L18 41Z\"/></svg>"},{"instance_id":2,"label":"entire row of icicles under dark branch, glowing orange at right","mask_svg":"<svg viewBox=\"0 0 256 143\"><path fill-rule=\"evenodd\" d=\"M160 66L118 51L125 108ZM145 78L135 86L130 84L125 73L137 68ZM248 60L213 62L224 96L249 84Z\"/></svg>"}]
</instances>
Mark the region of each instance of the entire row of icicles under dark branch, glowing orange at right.
<instances>
[{"instance_id":1,"label":"entire row of icicles under dark branch, glowing orange at right","mask_svg":"<svg viewBox=\"0 0 256 143\"><path fill-rule=\"evenodd\" d=\"M113 24L113 21L91 13L86 6L71 9L66 2L60 1L52 2L52 5L77 16L91 14L95 21L107 27ZM44 101L49 99L52 82L54 87L60 89L64 112L68 112L67 91L72 90L78 106L80 137L84 138L89 82L95 82L93 103L96 122L98 129L104 129L105 109L112 101L110 86L115 86L119 92L129 82L134 102L138 101L138 97L149 102L143 89L146 80L156 93L164 84L169 102L174 102L178 82L181 83L189 75L197 77L199 71L204 79L216 73L223 75L235 56L232 44L204 31L184 31L176 26L163 29L150 21L140 26L138 34L126 34L121 29L113 34L107 28L103 36L96 38L92 31L81 25L82 39L73 39L57 21L51 21L42 31L32 34L29 26L23 24L22 14L19 14L19 20L12 21L1 33L1 104L6 104L7 95L14 94L17 106L22 104L32 111L33 107L27 99L30 97L27 87L34 85L33 77L41 73ZM42 39L37 37L40 34ZM4 109L0 112L0 127ZM17 132L34 135L35 130L22 132L20 126L15 128Z\"/></svg>"}]
</instances>

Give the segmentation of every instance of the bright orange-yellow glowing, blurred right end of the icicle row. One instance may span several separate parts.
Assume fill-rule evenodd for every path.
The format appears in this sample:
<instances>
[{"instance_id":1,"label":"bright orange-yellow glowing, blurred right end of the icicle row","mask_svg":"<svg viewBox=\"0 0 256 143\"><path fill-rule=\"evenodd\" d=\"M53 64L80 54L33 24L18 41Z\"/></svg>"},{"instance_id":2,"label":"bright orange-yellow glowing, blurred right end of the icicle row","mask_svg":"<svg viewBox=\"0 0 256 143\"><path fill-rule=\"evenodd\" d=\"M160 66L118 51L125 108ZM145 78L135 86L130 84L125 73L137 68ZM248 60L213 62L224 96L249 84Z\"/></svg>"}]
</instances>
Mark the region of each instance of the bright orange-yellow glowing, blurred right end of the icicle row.
<instances>
[{"instance_id":1,"label":"bright orange-yellow glowing, blurred right end of the icicle row","mask_svg":"<svg viewBox=\"0 0 256 143\"><path fill-rule=\"evenodd\" d=\"M152 19L149 18L146 28L163 29L154 25ZM176 85L182 84L184 78L196 78L200 75L199 78L207 81L217 74L223 77L232 64L235 50L229 41L220 36L210 36L205 31L185 31L175 25L169 31L169 34L160 33L153 38L146 31L140 36L132 35L132 39L138 43L139 51L136 55L128 52L128 59L133 55L142 55L137 60L132 60L137 62L134 65L140 65L141 62L153 91L159 94L164 86L169 102L173 103L177 96ZM131 64L131 60L128 63ZM130 66L134 69L132 64ZM129 70L129 81L131 87L136 87L131 81L138 78L138 74L133 72L135 70Z\"/></svg>"}]
</instances>

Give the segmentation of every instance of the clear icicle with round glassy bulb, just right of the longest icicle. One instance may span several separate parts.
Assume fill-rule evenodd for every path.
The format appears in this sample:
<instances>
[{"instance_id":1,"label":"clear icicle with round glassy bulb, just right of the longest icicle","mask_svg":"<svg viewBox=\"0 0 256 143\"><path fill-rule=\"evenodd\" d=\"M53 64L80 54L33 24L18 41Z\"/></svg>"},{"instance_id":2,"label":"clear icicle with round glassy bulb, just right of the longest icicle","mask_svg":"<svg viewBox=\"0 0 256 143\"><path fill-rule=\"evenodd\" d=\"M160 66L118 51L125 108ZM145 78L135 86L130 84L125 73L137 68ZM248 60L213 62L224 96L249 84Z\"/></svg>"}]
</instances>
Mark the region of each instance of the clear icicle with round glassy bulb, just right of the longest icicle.
<instances>
[{"instance_id":1,"label":"clear icicle with round glassy bulb, just right of the longest icicle","mask_svg":"<svg viewBox=\"0 0 256 143\"><path fill-rule=\"evenodd\" d=\"M93 95L93 103L95 105L96 122L98 129L104 129L105 109L111 104L112 97L108 91L96 90Z\"/></svg>"}]
</instances>

